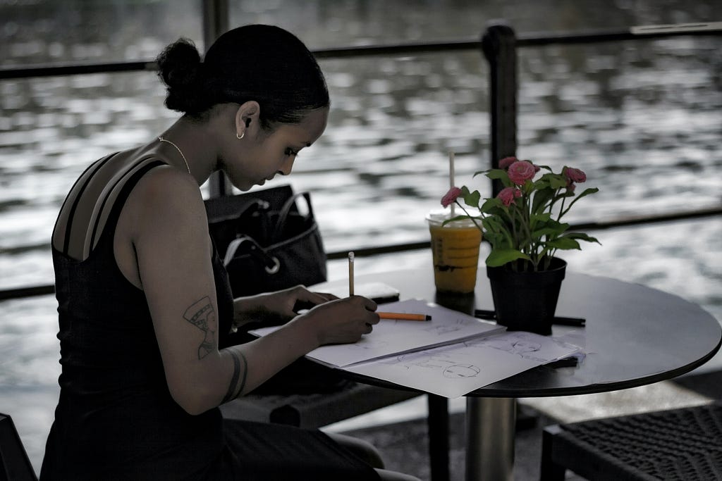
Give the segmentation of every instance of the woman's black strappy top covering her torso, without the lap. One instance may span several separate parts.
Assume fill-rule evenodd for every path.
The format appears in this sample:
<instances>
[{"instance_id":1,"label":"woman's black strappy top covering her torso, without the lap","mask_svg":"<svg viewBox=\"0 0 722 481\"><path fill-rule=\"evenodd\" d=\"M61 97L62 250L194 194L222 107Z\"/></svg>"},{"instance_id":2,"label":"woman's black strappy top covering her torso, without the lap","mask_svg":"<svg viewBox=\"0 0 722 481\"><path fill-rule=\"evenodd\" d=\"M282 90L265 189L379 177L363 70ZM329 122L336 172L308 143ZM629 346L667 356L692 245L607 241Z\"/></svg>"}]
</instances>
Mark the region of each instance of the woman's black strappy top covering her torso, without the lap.
<instances>
[{"instance_id":1,"label":"woman's black strappy top covering her torso, without the lap","mask_svg":"<svg viewBox=\"0 0 722 481\"><path fill-rule=\"evenodd\" d=\"M113 254L124 203L160 165L149 162L126 182L89 257L74 260L53 247L62 373L43 480L199 480L221 456L219 410L192 416L173 401L144 292ZM71 213L68 232L72 221ZM212 265L219 332L227 332L232 296L215 248Z\"/></svg>"}]
</instances>

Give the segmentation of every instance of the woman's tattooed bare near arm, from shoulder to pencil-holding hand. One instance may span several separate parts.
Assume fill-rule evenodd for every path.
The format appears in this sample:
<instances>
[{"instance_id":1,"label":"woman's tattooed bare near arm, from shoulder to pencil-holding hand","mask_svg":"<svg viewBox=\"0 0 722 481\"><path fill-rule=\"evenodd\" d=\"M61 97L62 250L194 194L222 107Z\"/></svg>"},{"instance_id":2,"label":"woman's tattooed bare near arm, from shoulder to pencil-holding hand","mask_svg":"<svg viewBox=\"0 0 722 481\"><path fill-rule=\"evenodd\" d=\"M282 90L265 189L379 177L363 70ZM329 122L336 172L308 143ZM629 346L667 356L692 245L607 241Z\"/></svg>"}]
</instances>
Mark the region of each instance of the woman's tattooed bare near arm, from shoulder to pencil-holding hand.
<instances>
[{"instance_id":1,"label":"woman's tattooed bare near arm, from shoulder to pencil-holding hand","mask_svg":"<svg viewBox=\"0 0 722 481\"><path fill-rule=\"evenodd\" d=\"M252 343L218 350L217 299L203 200L188 175L156 169L123 209L173 399L191 414L248 392L324 343L355 342L375 304L331 301ZM126 209L128 211L126 212Z\"/></svg>"}]
</instances>

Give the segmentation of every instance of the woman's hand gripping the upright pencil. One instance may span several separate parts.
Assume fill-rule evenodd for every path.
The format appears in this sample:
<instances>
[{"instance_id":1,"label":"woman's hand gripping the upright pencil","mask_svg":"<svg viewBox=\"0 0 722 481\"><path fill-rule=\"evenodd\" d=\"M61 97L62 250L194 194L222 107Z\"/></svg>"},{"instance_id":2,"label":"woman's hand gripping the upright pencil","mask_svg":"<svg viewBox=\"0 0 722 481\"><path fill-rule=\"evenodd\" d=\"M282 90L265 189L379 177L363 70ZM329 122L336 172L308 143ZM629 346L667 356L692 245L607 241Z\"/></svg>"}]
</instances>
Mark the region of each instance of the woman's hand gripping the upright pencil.
<instances>
[{"instance_id":1,"label":"woman's hand gripping the upright pencil","mask_svg":"<svg viewBox=\"0 0 722 481\"><path fill-rule=\"evenodd\" d=\"M374 301L350 296L319 304L295 320L316 331L318 345L355 343L378 324L375 311Z\"/></svg>"}]
</instances>

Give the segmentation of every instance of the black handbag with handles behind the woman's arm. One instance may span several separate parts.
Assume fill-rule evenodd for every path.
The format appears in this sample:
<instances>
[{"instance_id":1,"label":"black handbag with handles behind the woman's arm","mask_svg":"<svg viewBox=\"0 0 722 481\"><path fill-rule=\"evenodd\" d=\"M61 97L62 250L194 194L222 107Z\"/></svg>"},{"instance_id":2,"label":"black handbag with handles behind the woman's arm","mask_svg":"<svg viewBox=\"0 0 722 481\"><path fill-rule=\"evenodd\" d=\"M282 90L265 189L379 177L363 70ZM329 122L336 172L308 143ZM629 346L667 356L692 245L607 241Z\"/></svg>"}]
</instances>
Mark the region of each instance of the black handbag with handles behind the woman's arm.
<instances>
[{"instance_id":1,"label":"black handbag with handles behind the woman's arm","mask_svg":"<svg viewBox=\"0 0 722 481\"><path fill-rule=\"evenodd\" d=\"M233 296L326 281L326 252L309 193L281 185L206 200L206 211Z\"/></svg>"}]
</instances>

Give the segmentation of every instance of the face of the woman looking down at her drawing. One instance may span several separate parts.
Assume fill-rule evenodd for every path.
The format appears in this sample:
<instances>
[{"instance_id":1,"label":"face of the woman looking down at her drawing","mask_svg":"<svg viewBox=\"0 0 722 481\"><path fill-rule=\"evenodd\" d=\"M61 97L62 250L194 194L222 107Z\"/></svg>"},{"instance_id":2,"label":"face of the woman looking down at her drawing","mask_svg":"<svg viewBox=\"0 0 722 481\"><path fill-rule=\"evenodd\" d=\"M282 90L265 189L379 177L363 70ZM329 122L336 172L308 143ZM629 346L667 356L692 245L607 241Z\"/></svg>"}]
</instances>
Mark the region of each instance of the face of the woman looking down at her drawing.
<instances>
[{"instance_id":1,"label":"face of the woman looking down at her drawing","mask_svg":"<svg viewBox=\"0 0 722 481\"><path fill-rule=\"evenodd\" d=\"M328 107L312 110L300 123L283 123L268 133L253 120L222 159L222 169L240 190L264 185L275 175L289 175L299 151L313 144L329 119ZM235 137L235 136L234 136Z\"/></svg>"}]
</instances>

